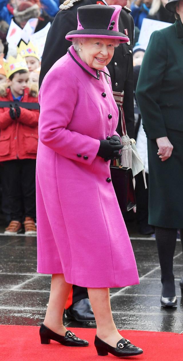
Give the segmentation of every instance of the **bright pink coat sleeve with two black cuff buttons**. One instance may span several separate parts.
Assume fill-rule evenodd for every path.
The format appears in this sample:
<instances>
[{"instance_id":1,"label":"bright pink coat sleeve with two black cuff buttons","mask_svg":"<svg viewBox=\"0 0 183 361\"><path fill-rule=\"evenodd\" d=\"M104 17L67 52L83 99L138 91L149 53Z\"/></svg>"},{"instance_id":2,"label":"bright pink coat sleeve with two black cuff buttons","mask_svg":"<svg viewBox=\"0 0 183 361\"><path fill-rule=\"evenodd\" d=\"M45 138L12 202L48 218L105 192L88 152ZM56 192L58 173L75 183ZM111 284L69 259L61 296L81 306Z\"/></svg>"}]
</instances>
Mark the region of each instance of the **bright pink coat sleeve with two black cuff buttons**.
<instances>
[{"instance_id":1,"label":"bright pink coat sleeve with two black cuff buttons","mask_svg":"<svg viewBox=\"0 0 183 361\"><path fill-rule=\"evenodd\" d=\"M41 143L66 158L91 165L100 141L67 129L77 103L77 87L71 72L63 66L61 71L58 68L51 70L41 85L39 103L38 133ZM81 114L84 116L84 112Z\"/></svg>"}]
</instances>

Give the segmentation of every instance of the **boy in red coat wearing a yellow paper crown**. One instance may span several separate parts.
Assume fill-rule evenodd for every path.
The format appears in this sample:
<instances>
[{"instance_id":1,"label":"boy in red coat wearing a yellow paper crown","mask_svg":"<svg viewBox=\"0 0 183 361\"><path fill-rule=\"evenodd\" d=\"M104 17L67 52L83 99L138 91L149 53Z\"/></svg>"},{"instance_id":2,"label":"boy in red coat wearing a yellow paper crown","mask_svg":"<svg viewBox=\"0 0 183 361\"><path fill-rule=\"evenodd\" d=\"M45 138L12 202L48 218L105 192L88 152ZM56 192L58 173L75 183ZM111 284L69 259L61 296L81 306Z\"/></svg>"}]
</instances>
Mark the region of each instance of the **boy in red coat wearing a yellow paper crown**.
<instances>
[{"instance_id":1,"label":"boy in red coat wearing a yellow paper crown","mask_svg":"<svg viewBox=\"0 0 183 361\"><path fill-rule=\"evenodd\" d=\"M7 187L11 219L4 233L17 234L24 221L25 234L36 235L35 169L39 110L22 108L21 104L38 103L37 93L28 88L28 68L20 55L16 59L9 57L5 70L8 88L1 88L0 101L14 101L15 105L0 108L2 183Z\"/></svg>"}]
</instances>

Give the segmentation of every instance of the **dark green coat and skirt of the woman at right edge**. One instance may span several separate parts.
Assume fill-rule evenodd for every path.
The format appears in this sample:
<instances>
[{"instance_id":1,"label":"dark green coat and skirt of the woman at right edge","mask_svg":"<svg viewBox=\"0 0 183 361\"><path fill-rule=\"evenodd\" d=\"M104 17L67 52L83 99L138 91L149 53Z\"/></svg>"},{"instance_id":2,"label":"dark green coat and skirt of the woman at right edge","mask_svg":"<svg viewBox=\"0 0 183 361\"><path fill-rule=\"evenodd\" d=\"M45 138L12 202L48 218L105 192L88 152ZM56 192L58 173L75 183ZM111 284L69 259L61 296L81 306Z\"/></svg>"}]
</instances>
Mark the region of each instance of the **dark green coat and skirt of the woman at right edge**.
<instances>
[{"instance_id":1,"label":"dark green coat and skirt of the woman at right edge","mask_svg":"<svg viewBox=\"0 0 183 361\"><path fill-rule=\"evenodd\" d=\"M183 24L151 35L140 69L136 96L148 138L149 223L183 227ZM157 156L156 138L168 136L171 157Z\"/></svg>"}]
</instances>

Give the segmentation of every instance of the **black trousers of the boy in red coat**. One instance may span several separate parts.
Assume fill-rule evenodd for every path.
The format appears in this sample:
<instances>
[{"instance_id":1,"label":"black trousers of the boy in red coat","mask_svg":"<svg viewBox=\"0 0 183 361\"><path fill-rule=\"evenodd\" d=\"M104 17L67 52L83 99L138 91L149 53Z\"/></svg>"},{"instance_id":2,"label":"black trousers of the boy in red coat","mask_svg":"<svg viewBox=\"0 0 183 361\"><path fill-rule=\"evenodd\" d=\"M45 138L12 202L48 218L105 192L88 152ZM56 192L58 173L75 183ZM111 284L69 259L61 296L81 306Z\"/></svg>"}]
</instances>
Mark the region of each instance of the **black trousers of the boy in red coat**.
<instances>
[{"instance_id":1,"label":"black trousers of the boy in red coat","mask_svg":"<svg viewBox=\"0 0 183 361\"><path fill-rule=\"evenodd\" d=\"M35 219L36 160L9 160L2 162L2 165L2 184L6 184L11 220L22 222L24 217Z\"/></svg>"}]
</instances>

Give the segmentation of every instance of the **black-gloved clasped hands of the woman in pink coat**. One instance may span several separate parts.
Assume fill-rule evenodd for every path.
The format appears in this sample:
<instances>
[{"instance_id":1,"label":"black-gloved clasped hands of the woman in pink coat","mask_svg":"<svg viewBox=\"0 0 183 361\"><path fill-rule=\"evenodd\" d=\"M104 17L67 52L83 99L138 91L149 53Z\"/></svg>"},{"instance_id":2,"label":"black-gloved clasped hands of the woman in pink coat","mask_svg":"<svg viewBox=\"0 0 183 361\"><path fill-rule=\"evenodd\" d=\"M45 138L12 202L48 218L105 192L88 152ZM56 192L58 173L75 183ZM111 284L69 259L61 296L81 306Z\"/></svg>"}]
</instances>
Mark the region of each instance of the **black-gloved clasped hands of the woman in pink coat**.
<instances>
[{"instance_id":1,"label":"black-gloved clasped hands of the woman in pink coat","mask_svg":"<svg viewBox=\"0 0 183 361\"><path fill-rule=\"evenodd\" d=\"M108 160L119 159L119 153L123 145L119 144L119 140L100 140L100 147L97 155L107 162Z\"/></svg>"}]
</instances>

